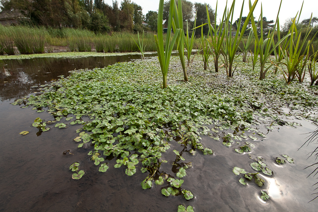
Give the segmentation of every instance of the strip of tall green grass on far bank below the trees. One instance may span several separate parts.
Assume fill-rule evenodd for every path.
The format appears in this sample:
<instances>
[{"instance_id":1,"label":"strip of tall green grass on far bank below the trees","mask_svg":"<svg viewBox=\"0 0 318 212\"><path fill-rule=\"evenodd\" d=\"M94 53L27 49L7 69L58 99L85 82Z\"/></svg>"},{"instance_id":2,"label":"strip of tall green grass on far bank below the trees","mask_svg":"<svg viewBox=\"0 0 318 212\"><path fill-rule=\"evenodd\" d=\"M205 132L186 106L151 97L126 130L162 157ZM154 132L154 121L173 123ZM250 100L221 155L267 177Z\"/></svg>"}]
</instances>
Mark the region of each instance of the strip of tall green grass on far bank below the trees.
<instances>
[{"instance_id":1,"label":"strip of tall green grass on far bank below the trees","mask_svg":"<svg viewBox=\"0 0 318 212\"><path fill-rule=\"evenodd\" d=\"M0 55L50 53L54 46L67 47L68 51L90 52L95 49L100 53L139 51L134 42L136 34L122 32L94 34L88 30L72 28L28 28L23 26L8 27L0 25ZM195 47L198 48L198 42ZM156 51L154 34L144 36L145 51ZM176 46L175 46L176 49Z\"/></svg>"}]
</instances>

